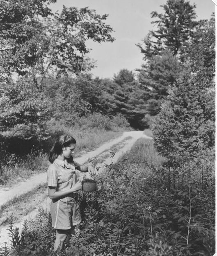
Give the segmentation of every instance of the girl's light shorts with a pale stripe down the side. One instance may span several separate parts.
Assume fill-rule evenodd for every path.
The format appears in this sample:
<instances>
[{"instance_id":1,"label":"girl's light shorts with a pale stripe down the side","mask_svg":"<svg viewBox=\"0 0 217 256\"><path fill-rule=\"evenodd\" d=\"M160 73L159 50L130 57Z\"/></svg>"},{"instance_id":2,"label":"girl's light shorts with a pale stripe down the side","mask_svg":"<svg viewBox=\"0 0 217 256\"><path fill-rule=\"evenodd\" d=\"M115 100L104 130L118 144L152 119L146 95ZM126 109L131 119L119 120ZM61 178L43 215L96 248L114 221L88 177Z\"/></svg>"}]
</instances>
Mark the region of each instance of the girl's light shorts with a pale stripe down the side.
<instances>
[{"instance_id":1,"label":"girl's light shorts with a pale stripe down the side","mask_svg":"<svg viewBox=\"0 0 217 256\"><path fill-rule=\"evenodd\" d=\"M69 202L52 201L50 213L54 229L71 229L81 222L80 208L75 199Z\"/></svg>"}]
</instances>

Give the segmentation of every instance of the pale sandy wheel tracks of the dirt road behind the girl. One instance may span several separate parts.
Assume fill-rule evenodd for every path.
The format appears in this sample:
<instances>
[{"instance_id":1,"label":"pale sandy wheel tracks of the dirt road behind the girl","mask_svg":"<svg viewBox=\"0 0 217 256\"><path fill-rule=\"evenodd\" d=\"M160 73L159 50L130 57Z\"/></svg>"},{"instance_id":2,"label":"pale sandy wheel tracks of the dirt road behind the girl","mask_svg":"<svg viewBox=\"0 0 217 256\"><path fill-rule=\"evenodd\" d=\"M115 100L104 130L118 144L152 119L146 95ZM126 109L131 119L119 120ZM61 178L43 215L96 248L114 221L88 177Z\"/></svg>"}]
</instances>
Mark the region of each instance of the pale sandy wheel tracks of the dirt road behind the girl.
<instances>
[{"instance_id":1,"label":"pale sandy wheel tracks of the dirt road behind the girl","mask_svg":"<svg viewBox=\"0 0 217 256\"><path fill-rule=\"evenodd\" d=\"M126 139L129 136L131 138L124 142L124 139ZM111 159L111 157L109 156L105 160L103 160L104 164L101 165L101 168L103 168L105 163L110 164L111 161L117 162L118 159L121 157L121 155L123 155L123 153L126 153L127 151L129 151L131 149L132 145L135 143L135 141L141 137L146 137L148 139L151 139L151 137L144 135L143 131L124 132L121 137L113 139L110 142L106 142L98 149L88 152L87 154L83 155L80 158L76 158L75 161L79 162L80 164L83 164L83 163L87 162L87 160L89 158L97 157L102 152L109 153L111 146L114 146L115 144L123 142L121 144L120 149L115 153L114 158ZM100 172L100 169L99 169L99 172ZM86 176L87 176L87 174L86 174ZM18 197L22 194L25 194L25 193L31 191L37 185L40 185L41 183L45 183L45 182L46 182L46 172L32 176L32 178L30 178L27 181L19 183L16 187L14 187L11 190L0 191L0 206L7 203L9 200L13 199L14 197ZM50 199L48 197L46 197L46 199L39 206L43 207L45 209L49 209L50 208ZM21 230L24 220L35 217L39 206L31 213L25 215L22 218L21 222L14 224L14 227L18 227ZM2 246L2 244L4 242L9 243L7 227L0 227L0 247Z\"/></svg>"}]
</instances>

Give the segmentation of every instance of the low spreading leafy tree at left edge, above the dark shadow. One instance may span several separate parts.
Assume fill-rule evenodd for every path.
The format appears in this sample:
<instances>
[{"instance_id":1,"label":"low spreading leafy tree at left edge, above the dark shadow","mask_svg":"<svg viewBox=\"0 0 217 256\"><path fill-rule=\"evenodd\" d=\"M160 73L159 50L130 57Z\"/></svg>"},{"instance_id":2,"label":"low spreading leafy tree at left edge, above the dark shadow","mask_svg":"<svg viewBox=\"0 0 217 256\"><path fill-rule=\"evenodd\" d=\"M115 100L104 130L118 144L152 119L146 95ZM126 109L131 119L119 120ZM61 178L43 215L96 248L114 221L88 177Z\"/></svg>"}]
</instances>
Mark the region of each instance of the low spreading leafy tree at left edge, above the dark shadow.
<instances>
[{"instance_id":1,"label":"low spreading leafy tree at left edge, above the dark shadow","mask_svg":"<svg viewBox=\"0 0 217 256\"><path fill-rule=\"evenodd\" d=\"M32 94L14 82L2 84L0 89L0 130L11 130L12 135L25 130L26 133L43 136L41 133L50 116L51 102L42 94Z\"/></svg>"}]
</instances>

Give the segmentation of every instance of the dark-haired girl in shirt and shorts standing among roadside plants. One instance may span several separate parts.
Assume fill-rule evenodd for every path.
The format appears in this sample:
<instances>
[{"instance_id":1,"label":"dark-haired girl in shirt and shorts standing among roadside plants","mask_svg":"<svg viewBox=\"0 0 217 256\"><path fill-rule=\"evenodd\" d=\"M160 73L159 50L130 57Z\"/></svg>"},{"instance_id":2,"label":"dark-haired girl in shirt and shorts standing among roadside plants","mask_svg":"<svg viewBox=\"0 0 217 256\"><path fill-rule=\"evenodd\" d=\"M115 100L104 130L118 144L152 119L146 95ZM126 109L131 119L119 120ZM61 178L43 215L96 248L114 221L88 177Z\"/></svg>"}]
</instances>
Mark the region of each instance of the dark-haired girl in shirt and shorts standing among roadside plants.
<instances>
[{"instance_id":1,"label":"dark-haired girl in shirt and shorts standing among roadside plants","mask_svg":"<svg viewBox=\"0 0 217 256\"><path fill-rule=\"evenodd\" d=\"M54 250L63 248L64 241L69 242L70 235L78 235L81 222L80 209L77 202L78 190L82 189L75 169L95 173L91 165L79 165L73 161L76 141L70 135L58 137L50 150L48 167L48 195L52 199L50 213L52 226L56 229Z\"/></svg>"}]
</instances>

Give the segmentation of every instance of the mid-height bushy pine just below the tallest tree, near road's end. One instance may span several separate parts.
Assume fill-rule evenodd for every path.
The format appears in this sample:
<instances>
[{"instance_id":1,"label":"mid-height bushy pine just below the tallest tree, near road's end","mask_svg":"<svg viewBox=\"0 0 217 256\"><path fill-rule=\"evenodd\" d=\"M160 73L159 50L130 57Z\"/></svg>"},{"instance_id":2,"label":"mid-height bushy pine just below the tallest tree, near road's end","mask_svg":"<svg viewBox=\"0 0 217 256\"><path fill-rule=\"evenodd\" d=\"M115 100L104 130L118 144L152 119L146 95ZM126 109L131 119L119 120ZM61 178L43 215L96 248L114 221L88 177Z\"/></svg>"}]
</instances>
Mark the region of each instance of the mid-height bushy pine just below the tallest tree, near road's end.
<instances>
[{"instance_id":1,"label":"mid-height bushy pine just below the tallest tree, near road's end","mask_svg":"<svg viewBox=\"0 0 217 256\"><path fill-rule=\"evenodd\" d=\"M138 69L138 80L143 88L142 95L148 114L156 115L160 112L160 105L168 95L168 88L178 78L180 70L178 59L170 51L154 55Z\"/></svg>"}]
</instances>

